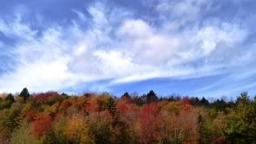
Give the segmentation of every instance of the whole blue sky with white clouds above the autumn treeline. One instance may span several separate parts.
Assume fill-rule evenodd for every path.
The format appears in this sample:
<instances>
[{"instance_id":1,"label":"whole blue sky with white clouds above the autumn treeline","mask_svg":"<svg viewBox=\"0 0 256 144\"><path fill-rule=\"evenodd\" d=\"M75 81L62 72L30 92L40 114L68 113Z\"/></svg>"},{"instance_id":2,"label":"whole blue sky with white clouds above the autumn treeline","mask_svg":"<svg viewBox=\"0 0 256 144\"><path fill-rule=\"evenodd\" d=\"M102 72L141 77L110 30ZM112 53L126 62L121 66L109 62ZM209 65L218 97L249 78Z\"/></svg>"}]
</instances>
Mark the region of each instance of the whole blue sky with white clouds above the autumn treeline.
<instances>
[{"instance_id":1,"label":"whole blue sky with white clouds above the autumn treeline","mask_svg":"<svg viewBox=\"0 0 256 144\"><path fill-rule=\"evenodd\" d=\"M256 94L254 0L1 0L0 92Z\"/></svg>"}]
</instances>

